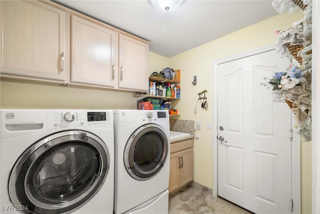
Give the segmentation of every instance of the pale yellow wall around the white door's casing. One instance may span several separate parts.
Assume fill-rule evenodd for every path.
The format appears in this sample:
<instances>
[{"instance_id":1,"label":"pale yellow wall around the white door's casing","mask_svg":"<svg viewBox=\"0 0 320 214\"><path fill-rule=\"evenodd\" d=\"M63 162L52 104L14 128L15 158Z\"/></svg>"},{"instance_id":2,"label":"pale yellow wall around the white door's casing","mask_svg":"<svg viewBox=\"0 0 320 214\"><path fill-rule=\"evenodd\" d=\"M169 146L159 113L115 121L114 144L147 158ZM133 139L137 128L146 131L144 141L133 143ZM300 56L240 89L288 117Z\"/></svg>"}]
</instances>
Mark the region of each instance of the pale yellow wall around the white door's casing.
<instances>
[{"instance_id":1,"label":"pale yellow wall around the white door's casing","mask_svg":"<svg viewBox=\"0 0 320 214\"><path fill-rule=\"evenodd\" d=\"M213 62L223 58L247 52L256 48L274 45L276 35L274 29L286 29L291 24L303 17L298 14L279 14L277 16L241 29L217 40L211 41L192 50L186 51L169 59L169 67L181 70L181 100L175 108L181 114L180 119L195 120L200 122L201 129L197 131L198 140L194 140L194 181L212 188L212 130L206 128L207 122L213 120L212 95L213 95ZM197 76L197 85L191 84L193 75ZM208 110L201 109L197 103L197 93L207 90ZM196 108L196 113L194 109ZM304 156L311 156L307 144L301 144L302 150L302 182L310 181L311 165ZM309 184L302 183L303 204L302 213L310 210L311 188ZM306 212L304 212L306 211Z\"/></svg>"}]
</instances>

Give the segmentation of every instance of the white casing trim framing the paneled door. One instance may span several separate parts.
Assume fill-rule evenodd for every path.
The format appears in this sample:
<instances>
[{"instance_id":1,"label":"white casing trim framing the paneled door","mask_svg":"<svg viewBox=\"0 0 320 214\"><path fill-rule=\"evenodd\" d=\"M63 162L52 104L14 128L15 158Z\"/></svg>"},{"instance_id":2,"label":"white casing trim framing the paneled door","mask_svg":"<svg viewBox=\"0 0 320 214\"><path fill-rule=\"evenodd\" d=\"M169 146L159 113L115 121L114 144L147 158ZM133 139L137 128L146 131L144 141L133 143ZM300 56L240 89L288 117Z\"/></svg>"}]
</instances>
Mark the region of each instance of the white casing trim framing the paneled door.
<instances>
[{"instance_id":1,"label":"white casing trim framing the paneled door","mask_svg":"<svg viewBox=\"0 0 320 214\"><path fill-rule=\"evenodd\" d=\"M243 52L240 54L232 55L217 61L213 62L213 184L212 184L212 195L214 197L217 197L218 194L218 155L217 155L217 148L218 148L218 141L217 141L217 127L218 127L218 121L217 121L217 100L218 100L218 93L217 93L217 71L218 71L218 65L227 63L230 61L242 59L245 57L250 57L256 54L261 54L264 52L275 50L274 45L269 45L257 49L253 49L247 52ZM293 115L291 113L291 118L293 118ZM294 120L291 120L291 127L294 125ZM300 184L300 176L301 176L301 170L300 170L300 154L301 154L301 148L300 148L300 136L293 131L293 140L292 140L292 147L291 147L291 198L294 201L294 208L292 213L300 213L301 211L301 184ZM293 167L294 166L294 167ZM296 188L299 187L299 188ZM289 201L288 201L289 204Z\"/></svg>"}]
</instances>

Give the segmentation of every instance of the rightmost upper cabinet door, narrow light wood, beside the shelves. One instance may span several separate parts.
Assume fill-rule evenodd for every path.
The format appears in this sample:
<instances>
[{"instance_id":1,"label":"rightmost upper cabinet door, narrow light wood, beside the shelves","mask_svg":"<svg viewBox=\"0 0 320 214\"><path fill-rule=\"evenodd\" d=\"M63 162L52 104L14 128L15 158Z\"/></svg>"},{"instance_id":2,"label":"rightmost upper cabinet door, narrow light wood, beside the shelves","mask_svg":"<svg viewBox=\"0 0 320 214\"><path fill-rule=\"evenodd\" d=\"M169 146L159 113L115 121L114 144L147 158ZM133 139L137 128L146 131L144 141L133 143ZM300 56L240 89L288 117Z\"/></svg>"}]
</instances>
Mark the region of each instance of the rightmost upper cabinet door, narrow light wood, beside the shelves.
<instances>
[{"instance_id":1,"label":"rightmost upper cabinet door, narrow light wood, beside the shelves","mask_svg":"<svg viewBox=\"0 0 320 214\"><path fill-rule=\"evenodd\" d=\"M119 88L148 90L149 45L119 35Z\"/></svg>"}]
</instances>

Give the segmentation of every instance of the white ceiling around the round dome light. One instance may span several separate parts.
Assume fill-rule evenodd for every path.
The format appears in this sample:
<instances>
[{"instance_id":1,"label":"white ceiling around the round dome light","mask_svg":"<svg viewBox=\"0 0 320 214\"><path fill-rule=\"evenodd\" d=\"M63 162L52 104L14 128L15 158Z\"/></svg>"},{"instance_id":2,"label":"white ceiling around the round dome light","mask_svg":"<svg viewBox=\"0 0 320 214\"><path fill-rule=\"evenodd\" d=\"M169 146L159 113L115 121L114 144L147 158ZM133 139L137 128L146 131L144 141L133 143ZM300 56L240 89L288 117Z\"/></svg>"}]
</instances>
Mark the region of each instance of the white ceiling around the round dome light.
<instances>
[{"instance_id":1,"label":"white ceiling around the round dome light","mask_svg":"<svg viewBox=\"0 0 320 214\"><path fill-rule=\"evenodd\" d=\"M278 14L271 0L185 0L160 13L148 0L57 0L149 42L150 51L172 57Z\"/></svg>"}]
</instances>

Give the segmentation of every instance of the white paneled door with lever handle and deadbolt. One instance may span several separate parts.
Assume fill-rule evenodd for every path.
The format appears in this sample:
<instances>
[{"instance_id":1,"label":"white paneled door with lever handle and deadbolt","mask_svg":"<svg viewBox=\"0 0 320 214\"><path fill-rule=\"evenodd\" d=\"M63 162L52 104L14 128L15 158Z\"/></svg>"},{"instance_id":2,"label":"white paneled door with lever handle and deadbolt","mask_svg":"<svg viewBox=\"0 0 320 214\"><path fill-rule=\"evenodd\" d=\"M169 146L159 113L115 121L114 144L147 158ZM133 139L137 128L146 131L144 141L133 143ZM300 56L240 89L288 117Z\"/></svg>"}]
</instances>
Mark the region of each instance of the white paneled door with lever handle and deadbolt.
<instances>
[{"instance_id":1,"label":"white paneled door with lever handle and deadbolt","mask_svg":"<svg viewBox=\"0 0 320 214\"><path fill-rule=\"evenodd\" d=\"M260 86L288 65L274 51L218 65L218 195L255 213L291 213L290 110Z\"/></svg>"}]
</instances>

